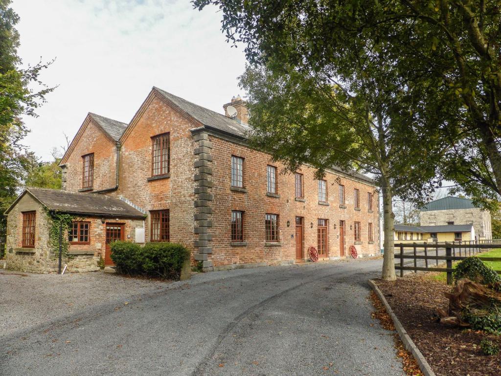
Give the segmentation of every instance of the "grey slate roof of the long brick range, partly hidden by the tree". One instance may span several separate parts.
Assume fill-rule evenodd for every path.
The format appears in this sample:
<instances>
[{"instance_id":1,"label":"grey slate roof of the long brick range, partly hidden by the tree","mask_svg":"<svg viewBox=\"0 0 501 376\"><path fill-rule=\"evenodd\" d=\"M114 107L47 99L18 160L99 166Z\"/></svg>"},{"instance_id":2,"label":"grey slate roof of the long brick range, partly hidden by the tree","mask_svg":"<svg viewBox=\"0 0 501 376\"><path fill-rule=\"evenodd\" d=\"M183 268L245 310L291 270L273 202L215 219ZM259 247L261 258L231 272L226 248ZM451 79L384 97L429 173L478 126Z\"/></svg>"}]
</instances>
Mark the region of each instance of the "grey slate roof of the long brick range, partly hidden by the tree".
<instances>
[{"instance_id":1,"label":"grey slate roof of the long brick range, partly hidden by the tree","mask_svg":"<svg viewBox=\"0 0 501 376\"><path fill-rule=\"evenodd\" d=\"M167 99L167 101L173 103L175 106L179 107L180 110L192 116L193 118L198 120L200 123L202 123L205 127L209 129L214 129L216 131L220 131L239 138L245 138L247 132L250 130L250 127L247 124L240 123L223 114L220 114L219 112L215 112L205 107L189 102L186 99L177 97L155 86L153 87L153 89L156 90L165 99ZM336 166L331 167L331 169L358 178L360 180L364 180L371 184L374 184L373 179L359 172L356 171L347 172Z\"/></svg>"}]
</instances>

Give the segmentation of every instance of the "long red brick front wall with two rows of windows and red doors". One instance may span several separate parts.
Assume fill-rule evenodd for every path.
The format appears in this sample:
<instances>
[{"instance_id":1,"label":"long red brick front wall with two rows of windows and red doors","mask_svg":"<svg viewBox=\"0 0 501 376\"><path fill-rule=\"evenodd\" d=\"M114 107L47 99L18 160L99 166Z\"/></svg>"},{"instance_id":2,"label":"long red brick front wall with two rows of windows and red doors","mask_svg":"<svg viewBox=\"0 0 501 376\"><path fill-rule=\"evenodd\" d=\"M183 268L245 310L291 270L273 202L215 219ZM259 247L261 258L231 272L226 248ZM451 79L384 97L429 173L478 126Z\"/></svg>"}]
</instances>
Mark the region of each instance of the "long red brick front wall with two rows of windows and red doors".
<instances>
[{"instance_id":1,"label":"long red brick front wall with two rows of windows and red doors","mask_svg":"<svg viewBox=\"0 0 501 376\"><path fill-rule=\"evenodd\" d=\"M374 192L368 184L341 177L345 185L346 209L339 206L339 175L327 173L327 201L329 206L318 204L318 180L314 169L304 166L305 202L295 201L295 175L280 173L283 165L270 161L266 153L240 146L236 143L211 136L212 178L214 187L212 214L212 256L214 267L240 263L274 263L296 259L295 218L304 217L304 254L310 246L318 247L317 220L328 219L329 257L339 256L339 222L346 221L346 248L354 244L354 222L361 222L359 253L374 254L379 249L378 195L374 195L373 213L368 212L367 192ZM231 155L244 158L243 185L247 193L230 190ZM277 193L280 198L268 197L267 164L277 166ZM360 211L354 209L354 188L360 190ZM246 246L230 246L232 210L244 211L244 241ZM265 246L265 214L280 215L280 239L282 246ZM287 221L290 227L287 227ZM373 223L374 244L368 244L368 223ZM313 223L313 228L311 227ZM334 225L336 228L334 228ZM350 226L352 229L350 229ZM209 255L210 259L210 255Z\"/></svg>"}]
</instances>

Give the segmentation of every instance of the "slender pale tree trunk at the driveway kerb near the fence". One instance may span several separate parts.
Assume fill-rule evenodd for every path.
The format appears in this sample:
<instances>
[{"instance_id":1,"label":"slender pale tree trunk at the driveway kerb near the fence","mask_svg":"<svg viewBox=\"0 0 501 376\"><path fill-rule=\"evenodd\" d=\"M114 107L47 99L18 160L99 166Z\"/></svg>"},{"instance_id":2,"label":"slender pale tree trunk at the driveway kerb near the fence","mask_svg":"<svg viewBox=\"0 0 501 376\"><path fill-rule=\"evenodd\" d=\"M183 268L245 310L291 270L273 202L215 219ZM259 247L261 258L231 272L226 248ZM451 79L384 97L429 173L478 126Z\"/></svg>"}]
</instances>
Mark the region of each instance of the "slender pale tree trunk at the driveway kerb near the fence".
<instances>
[{"instance_id":1,"label":"slender pale tree trunk at the driveway kerb near the fence","mask_svg":"<svg viewBox=\"0 0 501 376\"><path fill-rule=\"evenodd\" d=\"M395 215L392 210L393 194L387 179L382 179L383 191L383 234L384 234L384 256L383 271L381 278L386 281L394 281L395 276L395 240L393 239L395 226Z\"/></svg>"}]
</instances>

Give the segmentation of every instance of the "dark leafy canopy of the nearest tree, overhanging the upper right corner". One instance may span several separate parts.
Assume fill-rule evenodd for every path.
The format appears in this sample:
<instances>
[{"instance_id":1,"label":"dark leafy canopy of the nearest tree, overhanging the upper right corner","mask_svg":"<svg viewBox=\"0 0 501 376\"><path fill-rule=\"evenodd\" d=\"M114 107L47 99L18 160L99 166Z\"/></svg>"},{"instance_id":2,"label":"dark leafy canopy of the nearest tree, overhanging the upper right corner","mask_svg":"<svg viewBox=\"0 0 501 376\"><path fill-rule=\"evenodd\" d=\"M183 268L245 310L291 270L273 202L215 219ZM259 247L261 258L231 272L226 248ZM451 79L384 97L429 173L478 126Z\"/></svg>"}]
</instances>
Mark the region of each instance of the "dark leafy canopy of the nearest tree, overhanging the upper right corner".
<instances>
[{"instance_id":1,"label":"dark leafy canopy of the nearest tree, overhanging the upper right corner","mask_svg":"<svg viewBox=\"0 0 501 376\"><path fill-rule=\"evenodd\" d=\"M442 155L437 163L442 177L460 183L459 190L475 201L487 204L499 197L499 2L194 0L193 4L199 9L218 6L228 40L243 43L252 63L273 60L275 67L292 65L350 81L361 62L360 51L353 46L365 46L369 56L384 56L400 84L398 102L411 114L402 112L399 121L408 122L409 139L419 137L422 148L430 143L438 148L434 153Z\"/></svg>"}]
</instances>

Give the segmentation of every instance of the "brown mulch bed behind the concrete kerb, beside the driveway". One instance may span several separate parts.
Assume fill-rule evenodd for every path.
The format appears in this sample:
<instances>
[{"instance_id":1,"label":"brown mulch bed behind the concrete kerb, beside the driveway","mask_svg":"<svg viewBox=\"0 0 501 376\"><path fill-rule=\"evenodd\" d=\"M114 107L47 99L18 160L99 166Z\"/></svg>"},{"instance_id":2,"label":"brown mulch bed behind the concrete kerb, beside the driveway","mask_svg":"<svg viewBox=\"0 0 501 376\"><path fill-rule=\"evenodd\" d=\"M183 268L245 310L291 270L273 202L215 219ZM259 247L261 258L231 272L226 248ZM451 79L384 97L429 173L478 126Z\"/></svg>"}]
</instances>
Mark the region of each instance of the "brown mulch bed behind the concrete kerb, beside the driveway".
<instances>
[{"instance_id":1,"label":"brown mulch bed behind the concrete kerb, beside the driveway","mask_svg":"<svg viewBox=\"0 0 501 376\"><path fill-rule=\"evenodd\" d=\"M451 286L431 280L430 274L374 281L437 376L501 375L501 354L480 350L484 338L501 347L501 337L440 324L437 308L447 307L444 292Z\"/></svg>"}]
</instances>

